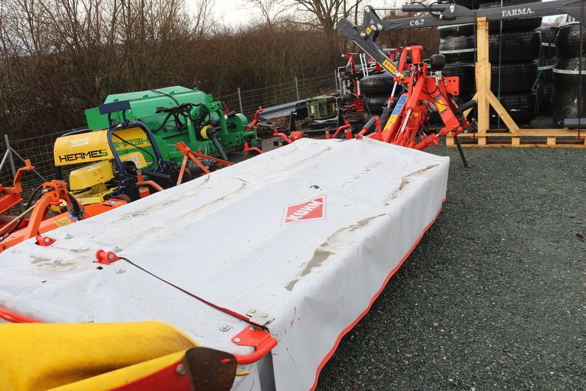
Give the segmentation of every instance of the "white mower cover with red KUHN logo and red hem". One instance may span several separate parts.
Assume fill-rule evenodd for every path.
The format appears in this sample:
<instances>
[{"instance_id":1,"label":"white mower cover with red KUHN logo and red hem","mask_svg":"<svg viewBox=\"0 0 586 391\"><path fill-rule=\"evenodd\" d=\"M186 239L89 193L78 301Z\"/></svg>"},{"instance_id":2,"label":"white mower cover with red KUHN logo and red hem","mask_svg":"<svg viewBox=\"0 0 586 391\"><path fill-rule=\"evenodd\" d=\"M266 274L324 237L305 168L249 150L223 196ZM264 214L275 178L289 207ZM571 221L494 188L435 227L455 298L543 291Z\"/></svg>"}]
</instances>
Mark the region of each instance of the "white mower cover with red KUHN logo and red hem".
<instances>
[{"instance_id":1,"label":"white mower cover with red KUHN logo and red hem","mask_svg":"<svg viewBox=\"0 0 586 391\"><path fill-rule=\"evenodd\" d=\"M448 162L304 138L53 230L50 246L6 250L0 307L47 322L157 319L240 355L251 348L232 338L251 324L230 313L274 317L273 368L270 355L241 366L251 375L234 389L270 389L273 369L277 390L313 389L440 212ZM100 249L132 263L94 263Z\"/></svg>"}]
</instances>

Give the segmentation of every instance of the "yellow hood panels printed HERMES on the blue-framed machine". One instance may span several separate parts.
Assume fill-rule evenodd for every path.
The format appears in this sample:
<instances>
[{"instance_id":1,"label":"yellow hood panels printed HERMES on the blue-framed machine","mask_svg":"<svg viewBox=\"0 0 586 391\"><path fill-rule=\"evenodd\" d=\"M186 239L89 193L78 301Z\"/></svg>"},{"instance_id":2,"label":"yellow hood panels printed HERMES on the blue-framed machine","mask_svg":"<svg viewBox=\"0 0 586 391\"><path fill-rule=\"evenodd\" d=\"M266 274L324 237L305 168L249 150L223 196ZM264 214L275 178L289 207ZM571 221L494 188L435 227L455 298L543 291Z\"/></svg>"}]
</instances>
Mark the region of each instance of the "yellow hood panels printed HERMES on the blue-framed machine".
<instances>
[{"instance_id":1,"label":"yellow hood panels printed HERMES on the blue-framed machine","mask_svg":"<svg viewBox=\"0 0 586 391\"><path fill-rule=\"evenodd\" d=\"M144 131L138 127L125 128L115 131L114 134L128 141L125 142L114 137L113 144L117 151L135 148L131 144L139 147L149 147L151 145ZM97 130L57 138L53 148L55 165L62 166L113 159L107 137L108 130Z\"/></svg>"}]
</instances>

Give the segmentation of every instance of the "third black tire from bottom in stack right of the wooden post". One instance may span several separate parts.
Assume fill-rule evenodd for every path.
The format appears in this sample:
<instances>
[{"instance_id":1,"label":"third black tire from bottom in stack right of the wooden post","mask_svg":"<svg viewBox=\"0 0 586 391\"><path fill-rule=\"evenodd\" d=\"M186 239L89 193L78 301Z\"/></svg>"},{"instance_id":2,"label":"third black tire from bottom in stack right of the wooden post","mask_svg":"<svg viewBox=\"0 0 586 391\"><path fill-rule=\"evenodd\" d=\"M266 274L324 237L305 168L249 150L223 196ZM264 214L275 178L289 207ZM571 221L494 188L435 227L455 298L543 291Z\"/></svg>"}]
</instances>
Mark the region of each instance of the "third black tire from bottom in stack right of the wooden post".
<instances>
[{"instance_id":1,"label":"third black tire from bottom in stack right of the wooden post","mask_svg":"<svg viewBox=\"0 0 586 391\"><path fill-rule=\"evenodd\" d=\"M539 57L540 46L541 33L537 30L488 35L488 57L493 65L499 64L499 60L500 63L533 61Z\"/></svg>"}]
</instances>

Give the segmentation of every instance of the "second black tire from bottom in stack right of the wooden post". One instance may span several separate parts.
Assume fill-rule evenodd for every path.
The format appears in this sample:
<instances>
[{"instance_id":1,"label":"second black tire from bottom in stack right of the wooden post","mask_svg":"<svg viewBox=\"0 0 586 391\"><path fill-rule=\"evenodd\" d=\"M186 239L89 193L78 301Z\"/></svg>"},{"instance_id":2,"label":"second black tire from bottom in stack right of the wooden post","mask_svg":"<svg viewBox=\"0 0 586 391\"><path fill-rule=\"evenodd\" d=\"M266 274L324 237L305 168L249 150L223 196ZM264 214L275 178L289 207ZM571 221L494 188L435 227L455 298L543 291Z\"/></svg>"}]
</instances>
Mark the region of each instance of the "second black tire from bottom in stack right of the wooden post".
<instances>
[{"instance_id":1,"label":"second black tire from bottom in stack right of the wooden post","mask_svg":"<svg viewBox=\"0 0 586 391\"><path fill-rule=\"evenodd\" d=\"M505 63L490 67L490 90L493 93L526 93L537 81L537 63ZM499 83L500 76L500 83Z\"/></svg>"}]
</instances>

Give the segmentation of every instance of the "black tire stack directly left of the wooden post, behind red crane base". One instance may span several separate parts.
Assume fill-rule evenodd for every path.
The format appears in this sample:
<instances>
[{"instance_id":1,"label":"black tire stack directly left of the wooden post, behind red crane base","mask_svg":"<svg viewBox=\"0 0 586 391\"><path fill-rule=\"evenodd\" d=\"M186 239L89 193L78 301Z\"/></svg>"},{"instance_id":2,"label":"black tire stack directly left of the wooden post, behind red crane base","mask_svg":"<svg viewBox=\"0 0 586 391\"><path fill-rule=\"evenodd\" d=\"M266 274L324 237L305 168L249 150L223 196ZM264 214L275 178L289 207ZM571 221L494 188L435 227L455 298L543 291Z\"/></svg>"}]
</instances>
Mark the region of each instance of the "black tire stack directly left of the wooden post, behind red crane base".
<instances>
[{"instance_id":1,"label":"black tire stack directly left of the wooden post, behind red crane base","mask_svg":"<svg viewBox=\"0 0 586 391\"><path fill-rule=\"evenodd\" d=\"M454 3L469 9L478 9L481 4L479 0L456 0ZM476 90L475 28L474 24L438 27L440 54L444 55L446 60L443 73L445 76L460 78L460 94L456 98L458 105L471 100Z\"/></svg>"}]
</instances>

